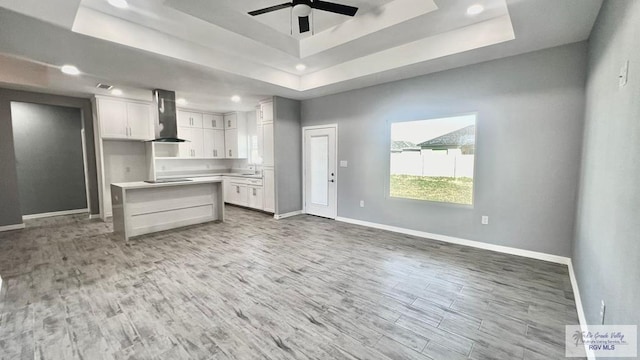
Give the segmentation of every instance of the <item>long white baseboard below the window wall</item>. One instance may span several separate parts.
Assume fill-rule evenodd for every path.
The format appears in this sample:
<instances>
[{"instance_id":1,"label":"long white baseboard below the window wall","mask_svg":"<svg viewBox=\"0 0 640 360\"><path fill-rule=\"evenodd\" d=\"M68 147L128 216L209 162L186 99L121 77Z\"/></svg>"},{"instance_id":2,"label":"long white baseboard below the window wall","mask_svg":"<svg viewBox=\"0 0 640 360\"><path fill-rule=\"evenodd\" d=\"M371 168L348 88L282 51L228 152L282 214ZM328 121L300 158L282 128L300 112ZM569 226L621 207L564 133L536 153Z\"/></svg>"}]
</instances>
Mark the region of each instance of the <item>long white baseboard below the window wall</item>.
<instances>
[{"instance_id":1,"label":"long white baseboard below the window wall","mask_svg":"<svg viewBox=\"0 0 640 360\"><path fill-rule=\"evenodd\" d=\"M527 257L527 258L544 260L544 261L549 261L549 262L563 264L563 265L568 265L570 263L570 261L571 261L570 258L564 257L564 256L558 256L558 255L547 254L547 253L531 251L531 250L523 250L523 249L513 248L513 247L509 247L509 246L488 244L488 243L484 243L484 242L481 242L481 241L461 239L461 238L457 238L457 237L453 237L453 236L447 236L447 235L432 234L432 233L428 233L428 232L424 232L424 231L411 230L411 229L406 229L406 228L401 228L401 227L396 227L396 226L390 226L390 225L384 225L384 224L378 224L378 223L373 223L373 222L368 222L368 221L350 219L350 218L345 218L345 217L337 217L336 220L337 221L346 222L346 223L349 223L349 224L362 225L362 226L372 227L372 228L376 228L376 229L387 230L387 231L397 232L397 233L401 233L401 234L422 237L422 238L426 238L426 239L444 241L444 242L451 243L451 244L470 246L470 247L474 247L474 248L478 248L478 249L491 250L491 251L500 252L500 253L504 253L504 254L523 256L523 257Z\"/></svg>"}]
</instances>

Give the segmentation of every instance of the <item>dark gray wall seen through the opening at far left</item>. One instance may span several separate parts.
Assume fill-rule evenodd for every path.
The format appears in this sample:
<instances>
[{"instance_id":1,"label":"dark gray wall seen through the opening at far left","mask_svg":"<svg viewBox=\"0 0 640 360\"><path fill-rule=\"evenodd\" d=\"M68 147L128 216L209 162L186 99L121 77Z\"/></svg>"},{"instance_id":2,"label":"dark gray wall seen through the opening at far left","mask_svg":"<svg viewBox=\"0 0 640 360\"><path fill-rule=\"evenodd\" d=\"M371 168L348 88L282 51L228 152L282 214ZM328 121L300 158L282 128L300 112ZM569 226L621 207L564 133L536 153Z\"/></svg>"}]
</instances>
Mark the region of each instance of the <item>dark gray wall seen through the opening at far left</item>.
<instances>
[{"instance_id":1,"label":"dark gray wall seen through the opening at far left","mask_svg":"<svg viewBox=\"0 0 640 360\"><path fill-rule=\"evenodd\" d=\"M85 209L80 109L13 102L11 119L22 214Z\"/></svg>"}]
</instances>

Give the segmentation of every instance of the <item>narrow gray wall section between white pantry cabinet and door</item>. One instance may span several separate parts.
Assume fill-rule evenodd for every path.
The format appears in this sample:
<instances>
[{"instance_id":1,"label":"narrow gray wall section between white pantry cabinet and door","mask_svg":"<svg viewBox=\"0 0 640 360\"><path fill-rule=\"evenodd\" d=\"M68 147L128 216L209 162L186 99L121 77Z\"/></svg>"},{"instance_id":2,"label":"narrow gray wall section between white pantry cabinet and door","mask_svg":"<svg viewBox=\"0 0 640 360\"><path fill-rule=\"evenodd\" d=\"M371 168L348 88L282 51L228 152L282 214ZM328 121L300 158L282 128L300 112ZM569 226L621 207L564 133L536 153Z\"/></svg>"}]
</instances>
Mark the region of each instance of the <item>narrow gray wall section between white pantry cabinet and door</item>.
<instances>
[{"instance_id":1,"label":"narrow gray wall section between white pantry cabinet and door","mask_svg":"<svg viewBox=\"0 0 640 360\"><path fill-rule=\"evenodd\" d=\"M302 210L300 101L273 98L276 214Z\"/></svg>"}]
</instances>

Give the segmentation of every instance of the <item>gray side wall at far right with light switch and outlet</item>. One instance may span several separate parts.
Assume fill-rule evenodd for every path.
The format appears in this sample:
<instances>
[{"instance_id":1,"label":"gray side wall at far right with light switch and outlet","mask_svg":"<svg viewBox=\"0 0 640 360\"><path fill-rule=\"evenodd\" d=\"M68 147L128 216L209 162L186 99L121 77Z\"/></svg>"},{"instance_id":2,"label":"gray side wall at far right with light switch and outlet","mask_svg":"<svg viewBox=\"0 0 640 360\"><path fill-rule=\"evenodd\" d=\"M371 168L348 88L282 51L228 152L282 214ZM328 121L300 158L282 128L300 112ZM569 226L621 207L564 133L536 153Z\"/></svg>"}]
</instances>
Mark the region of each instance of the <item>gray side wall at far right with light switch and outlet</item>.
<instances>
[{"instance_id":1,"label":"gray side wall at far right with light switch and outlet","mask_svg":"<svg viewBox=\"0 0 640 360\"><path fill-rule=\"evenodd\" d=\"M640 1L605 1L591 34L573 264L589 324L640 324ZM629 82L618 71L629 60Z\"/></svg>"}]
</instances>

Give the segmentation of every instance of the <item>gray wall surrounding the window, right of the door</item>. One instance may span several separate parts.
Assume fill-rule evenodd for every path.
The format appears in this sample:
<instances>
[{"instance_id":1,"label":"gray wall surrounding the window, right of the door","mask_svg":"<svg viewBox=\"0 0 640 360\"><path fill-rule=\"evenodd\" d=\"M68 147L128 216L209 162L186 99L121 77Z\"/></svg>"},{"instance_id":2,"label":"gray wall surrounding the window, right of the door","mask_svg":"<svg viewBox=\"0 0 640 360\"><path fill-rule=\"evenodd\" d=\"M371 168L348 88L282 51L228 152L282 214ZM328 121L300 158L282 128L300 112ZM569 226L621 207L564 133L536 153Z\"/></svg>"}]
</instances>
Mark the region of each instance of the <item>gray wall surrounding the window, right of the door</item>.
<instances>
[{"instance_id":1,"label":"gray wall surrounding the window, right of the door","mask_svg":"<svg viewBox=\"0 0 640 360\"><path fill-rule=\"evenodd\" d=\"M303 101L303 126L338 124L338 216L569 256L586 62L583 42ZM469 112L473 208L389 198L388 123Z\"/></svg>"}]
</instances>

